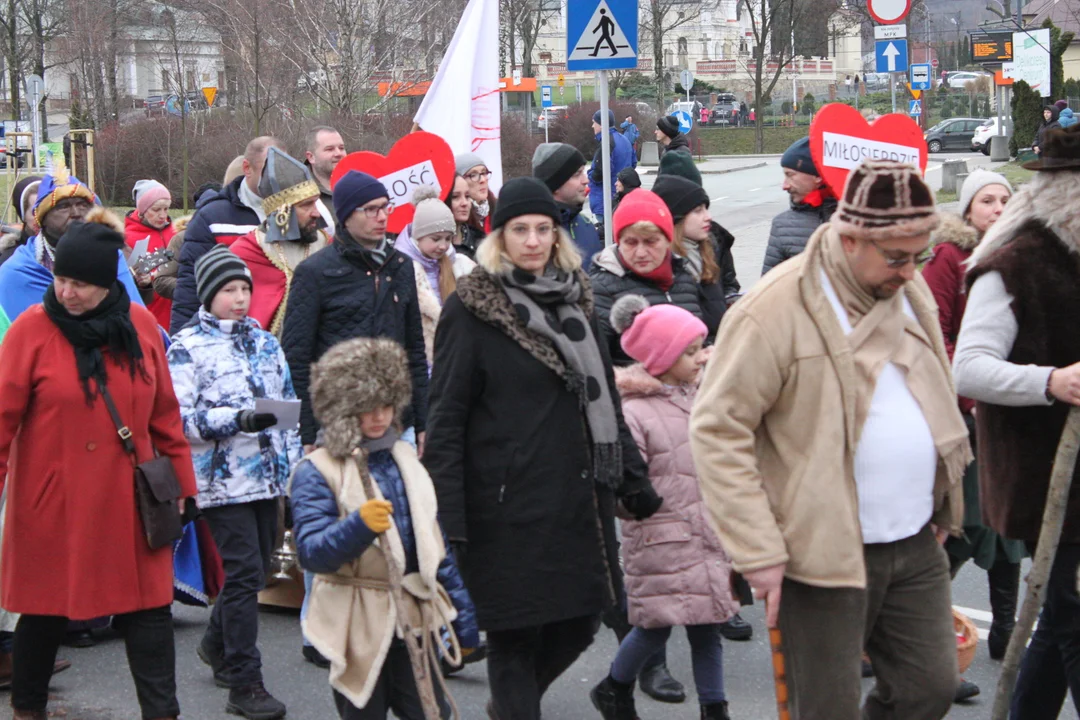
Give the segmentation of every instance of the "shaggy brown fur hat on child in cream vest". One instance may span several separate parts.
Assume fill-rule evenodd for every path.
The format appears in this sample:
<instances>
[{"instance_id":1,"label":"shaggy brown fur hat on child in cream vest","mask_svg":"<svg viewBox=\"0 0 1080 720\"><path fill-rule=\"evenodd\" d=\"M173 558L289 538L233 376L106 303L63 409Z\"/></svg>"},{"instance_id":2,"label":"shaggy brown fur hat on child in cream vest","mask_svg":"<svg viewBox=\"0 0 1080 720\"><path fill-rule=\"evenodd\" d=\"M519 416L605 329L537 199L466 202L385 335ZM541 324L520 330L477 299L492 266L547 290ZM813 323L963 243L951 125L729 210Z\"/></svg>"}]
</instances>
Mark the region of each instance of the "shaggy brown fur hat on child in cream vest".
<instances>
[{"instance_id":1,"label":"shaggy brown fur hat on child in cream vest","mask_svg":"<svg viewBox=\"0 0 1080 720\"><path fill-rule=\"evenodd\" d=\"M311 409L335 458L348 458L364 439L360 413L389 405L400 418L411 400L408 359L393 340L346 340L311 367Z\"/></svg>"}]
</instances>

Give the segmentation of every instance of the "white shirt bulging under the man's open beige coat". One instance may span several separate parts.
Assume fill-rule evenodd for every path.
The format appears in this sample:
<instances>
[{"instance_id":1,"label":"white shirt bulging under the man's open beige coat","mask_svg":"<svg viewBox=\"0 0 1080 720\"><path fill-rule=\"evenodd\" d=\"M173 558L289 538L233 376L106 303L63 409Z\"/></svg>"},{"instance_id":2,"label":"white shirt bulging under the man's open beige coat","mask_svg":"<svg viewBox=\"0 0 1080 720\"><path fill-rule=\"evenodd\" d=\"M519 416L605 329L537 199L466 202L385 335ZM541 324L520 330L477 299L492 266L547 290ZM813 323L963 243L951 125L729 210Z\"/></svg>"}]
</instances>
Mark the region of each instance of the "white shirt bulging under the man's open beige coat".
<instances>
[{"instance_id":1,"label":"white shirt bulging under the man's open beige coat","mask_svg":"<svg viewBox=\"0 0 1080 720\"><path fill-rule=\"evenodd\" d=\"M825 272L822 289L845 335L851 322ZM904 312L915 311L904 297ZM888 363L878 376L869 413L855 448L855 490L864 543L892 543L921 530L934 513L937 448L907 379Z\"/></svg>"}]
</instances>

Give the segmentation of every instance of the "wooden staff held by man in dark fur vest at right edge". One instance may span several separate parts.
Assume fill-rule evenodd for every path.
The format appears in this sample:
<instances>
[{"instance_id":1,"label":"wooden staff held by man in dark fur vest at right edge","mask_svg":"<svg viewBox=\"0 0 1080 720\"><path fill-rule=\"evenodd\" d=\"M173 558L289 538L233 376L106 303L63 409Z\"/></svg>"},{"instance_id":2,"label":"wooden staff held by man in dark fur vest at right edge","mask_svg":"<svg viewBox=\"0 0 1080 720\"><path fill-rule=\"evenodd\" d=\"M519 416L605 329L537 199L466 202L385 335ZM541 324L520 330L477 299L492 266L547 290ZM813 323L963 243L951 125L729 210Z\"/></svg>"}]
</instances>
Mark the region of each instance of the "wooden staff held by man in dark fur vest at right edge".
<instances>
[{"instance_id":1,"label":"wooden staff held by man in dark fur vest at right edge","mask_svg":"<svg viewBox=\"0 0 1080 720\"><path fill-rule=\"evenodd\" d=\"M1009 639L1005 661L1001 666L1001 677L998 679L998 690L994 696L994 715L991 720L1005 720L1009 706L1012 704L1013 688L1016 675L1020 673L1020 660L1031 637L1035 620L1047 599L1047 582L1050 570L1054 566L1057 545L1062 541L1062 527L1065 525L1065 510L1068 505L1069 490L1072 488L1072 474L1076 472L1077 453L1080 451L1080 407L1074 406L1065 421L1062 439L1057 444L1057 454L1054 457L1054 470L1050 474L1050 491L1047 493L1047 507L1042 512L1042 528L1039 530L1039 544L1027 576L1027 593L1020 611L1020 620Z\"/></svg>"}]
</instances>

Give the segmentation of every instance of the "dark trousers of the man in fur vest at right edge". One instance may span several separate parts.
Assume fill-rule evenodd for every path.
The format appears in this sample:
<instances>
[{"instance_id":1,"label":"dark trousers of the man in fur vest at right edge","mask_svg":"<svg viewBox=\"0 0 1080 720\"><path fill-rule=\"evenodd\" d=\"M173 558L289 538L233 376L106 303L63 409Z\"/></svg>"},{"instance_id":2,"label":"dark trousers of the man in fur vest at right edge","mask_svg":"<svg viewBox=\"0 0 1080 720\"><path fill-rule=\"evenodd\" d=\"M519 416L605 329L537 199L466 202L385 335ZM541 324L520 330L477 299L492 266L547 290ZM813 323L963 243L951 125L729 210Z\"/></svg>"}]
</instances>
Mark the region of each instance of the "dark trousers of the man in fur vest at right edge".
<instances>
[{"instance_id":1,"label":"dark trousers of the man in fur vest at right edge","mask_svg":"<svg viewBox=\"0 0 1080 720\"><path fill-rule=\"evenodd\" d=\"M1009 716L1012 720L1056 718L1066 691L1072 692L1072 703L1080 709L1078 566L1080 545L1059 545L1050 571L1039 627L1021 662Z\"/></svg>"}]
</instances>

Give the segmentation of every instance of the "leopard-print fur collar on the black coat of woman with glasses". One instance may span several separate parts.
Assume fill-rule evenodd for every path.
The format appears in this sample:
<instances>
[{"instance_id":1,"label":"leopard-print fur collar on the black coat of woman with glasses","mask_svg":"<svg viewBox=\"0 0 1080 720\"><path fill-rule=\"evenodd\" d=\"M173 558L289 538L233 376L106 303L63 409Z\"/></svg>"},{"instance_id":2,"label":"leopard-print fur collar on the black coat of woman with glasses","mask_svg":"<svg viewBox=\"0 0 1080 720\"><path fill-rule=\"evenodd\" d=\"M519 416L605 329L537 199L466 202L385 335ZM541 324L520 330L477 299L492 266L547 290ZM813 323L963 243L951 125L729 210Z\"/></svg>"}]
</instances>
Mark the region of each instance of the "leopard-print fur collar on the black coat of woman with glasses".
<instances>
[{"instance_id":1,"label":"leopard-print fur collar on the black coat of woman with glasses","mask_svg":"<svg viewBox=\"0 0 1080 720\"><path fill-rule=\"evenodd\" d=\"M593 288L585 273L576 271L581 283L581 301L578 307L585 317L592 317L594 312ZM563 356L555 350L555 344L548 338L529 330L510 302L510 296L502 287L498 277L477 266L469 275L458 281L458 298L461 303L478 320L501 330L511 340L522 347L559 378L566 380L569 376ZM597 342L599 339L597 338Z\"/></svg>"}]
</instances>

